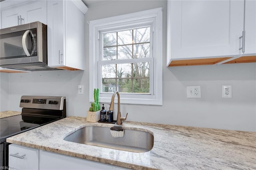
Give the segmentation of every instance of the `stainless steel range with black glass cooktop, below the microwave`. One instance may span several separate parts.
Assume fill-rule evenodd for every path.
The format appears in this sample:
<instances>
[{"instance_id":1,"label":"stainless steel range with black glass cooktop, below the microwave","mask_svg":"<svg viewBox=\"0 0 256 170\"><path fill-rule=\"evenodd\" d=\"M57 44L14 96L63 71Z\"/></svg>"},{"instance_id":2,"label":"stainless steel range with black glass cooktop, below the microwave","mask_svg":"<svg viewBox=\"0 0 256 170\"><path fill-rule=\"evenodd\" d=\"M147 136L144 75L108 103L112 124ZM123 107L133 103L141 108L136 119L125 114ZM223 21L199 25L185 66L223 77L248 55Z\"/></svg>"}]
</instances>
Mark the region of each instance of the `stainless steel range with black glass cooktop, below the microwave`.
<instances>
[{"instance_id":1,"label":"stainless steel range with black glass cooktop, below the microwave","mask_svg":"<svg viewBox=\"0 0 256 170\"><path fill-rule=\"evenodd\" d=\"M0 119L0 167L8 166L8 137L66 117L64 96L22 96L20 115Z\"/></svg>"}]
</instances>

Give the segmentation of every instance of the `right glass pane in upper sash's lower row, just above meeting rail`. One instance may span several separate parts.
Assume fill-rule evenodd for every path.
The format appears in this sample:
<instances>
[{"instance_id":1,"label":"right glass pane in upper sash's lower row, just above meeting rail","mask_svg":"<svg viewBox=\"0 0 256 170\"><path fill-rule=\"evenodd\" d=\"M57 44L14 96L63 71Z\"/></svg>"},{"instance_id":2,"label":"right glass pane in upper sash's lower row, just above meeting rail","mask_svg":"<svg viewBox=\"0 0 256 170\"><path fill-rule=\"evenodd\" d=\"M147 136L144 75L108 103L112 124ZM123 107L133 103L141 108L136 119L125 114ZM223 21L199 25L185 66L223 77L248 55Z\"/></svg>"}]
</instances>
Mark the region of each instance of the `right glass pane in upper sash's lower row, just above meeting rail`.
<instances>
[{"instance_id":1,"label":"right glass pane in upper sash's lower row, just above meeting rail","mask_svg":"<svg viewBox=\"0 0 256 170\"><path fill-rule=\"evenodd\" d=\"M150 57L149 43L133 45L134 58Z\"/></svg>"}]
</instances>

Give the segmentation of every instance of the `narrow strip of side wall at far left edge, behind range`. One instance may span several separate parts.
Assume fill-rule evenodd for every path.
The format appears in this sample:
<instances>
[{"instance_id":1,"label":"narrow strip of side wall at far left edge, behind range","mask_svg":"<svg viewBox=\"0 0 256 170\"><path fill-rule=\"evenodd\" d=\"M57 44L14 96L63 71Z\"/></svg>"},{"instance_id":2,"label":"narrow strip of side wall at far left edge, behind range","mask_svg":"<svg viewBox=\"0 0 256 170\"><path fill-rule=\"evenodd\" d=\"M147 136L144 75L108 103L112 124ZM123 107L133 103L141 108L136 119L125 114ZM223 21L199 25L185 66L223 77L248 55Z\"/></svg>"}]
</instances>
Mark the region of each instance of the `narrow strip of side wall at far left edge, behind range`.
<instances>
[{"instance_id":1,"label":"narrow strip of side wall at far left edge, behind range","mask_svg":"<svg viewBox=\"0 0 256 170\"><path fill-rule=\"evenodd\" d=\"M9 74L0 73L0 111L9 110Z\"/></svg>"}]
</instances>

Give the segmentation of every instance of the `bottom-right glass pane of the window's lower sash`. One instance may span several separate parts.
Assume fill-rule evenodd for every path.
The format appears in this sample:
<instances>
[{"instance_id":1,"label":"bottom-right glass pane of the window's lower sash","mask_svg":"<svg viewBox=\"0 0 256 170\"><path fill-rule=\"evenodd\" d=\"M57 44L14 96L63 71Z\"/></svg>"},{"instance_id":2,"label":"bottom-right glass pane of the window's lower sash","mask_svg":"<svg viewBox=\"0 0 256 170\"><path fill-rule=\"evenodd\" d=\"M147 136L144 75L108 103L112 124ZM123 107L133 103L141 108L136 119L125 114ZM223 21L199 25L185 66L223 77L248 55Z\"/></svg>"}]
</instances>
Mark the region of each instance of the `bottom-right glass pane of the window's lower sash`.
<instances>
[{"instance_id":1,"label":"bottom-right glass pane of the window's lower sash","mask_svg":"<svg viewBox=\"0 0 256 170\"><path fill-rule=\"evenodd\" d=\"M134 93L149 93L149 78L136 78L133 80Z\"/></svg>"}]
</instances>

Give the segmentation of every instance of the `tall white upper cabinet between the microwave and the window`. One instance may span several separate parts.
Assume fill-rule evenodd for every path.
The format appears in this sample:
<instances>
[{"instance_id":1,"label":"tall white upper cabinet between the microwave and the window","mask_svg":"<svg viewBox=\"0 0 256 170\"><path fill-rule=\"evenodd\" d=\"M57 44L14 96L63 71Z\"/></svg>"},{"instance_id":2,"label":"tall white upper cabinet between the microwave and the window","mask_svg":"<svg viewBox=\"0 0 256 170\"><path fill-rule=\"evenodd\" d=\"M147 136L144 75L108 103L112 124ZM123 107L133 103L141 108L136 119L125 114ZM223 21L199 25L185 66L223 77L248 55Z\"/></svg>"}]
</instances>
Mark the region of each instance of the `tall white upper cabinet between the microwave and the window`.
<instances>
[{"instance_id":1,"label":"tall white upper cabinet between the microwave and the window","mask_svg":"<svg viewBox=\"0 0 256 170\"><path fill-rule=\"evenodd\" d=\"M48 66L84 70L84 14L82 1L47 2Z\"/></svg>"}]
</instances>

